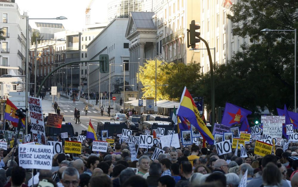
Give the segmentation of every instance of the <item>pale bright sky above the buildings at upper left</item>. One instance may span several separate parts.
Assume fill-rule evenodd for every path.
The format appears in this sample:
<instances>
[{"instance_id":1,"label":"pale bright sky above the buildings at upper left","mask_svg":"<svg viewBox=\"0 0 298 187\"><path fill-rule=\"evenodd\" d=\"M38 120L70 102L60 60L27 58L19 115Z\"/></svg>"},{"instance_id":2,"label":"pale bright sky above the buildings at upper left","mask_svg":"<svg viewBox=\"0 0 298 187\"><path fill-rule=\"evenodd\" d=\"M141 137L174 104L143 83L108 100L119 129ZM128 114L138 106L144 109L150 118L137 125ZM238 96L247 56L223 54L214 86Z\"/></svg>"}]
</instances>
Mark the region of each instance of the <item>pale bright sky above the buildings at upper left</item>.
<instances>
[{"instance_id":1,"label":"pale bright sky above the buildings at upper left","mask_svg":"<svg viewBox=\"0 0 298 187\"><path fill-rule=\"evenodd\" d=\"M93 0L90 10L90 24L107 22L107 5L110 0ZM62 23L64 28L82 31L85 28L85 10L90 0L15 0L23 12L28 12L29 18L56 18L65 16L67 20L29 20L32 28L35 22Z\"/></svg>"}]
</instances>

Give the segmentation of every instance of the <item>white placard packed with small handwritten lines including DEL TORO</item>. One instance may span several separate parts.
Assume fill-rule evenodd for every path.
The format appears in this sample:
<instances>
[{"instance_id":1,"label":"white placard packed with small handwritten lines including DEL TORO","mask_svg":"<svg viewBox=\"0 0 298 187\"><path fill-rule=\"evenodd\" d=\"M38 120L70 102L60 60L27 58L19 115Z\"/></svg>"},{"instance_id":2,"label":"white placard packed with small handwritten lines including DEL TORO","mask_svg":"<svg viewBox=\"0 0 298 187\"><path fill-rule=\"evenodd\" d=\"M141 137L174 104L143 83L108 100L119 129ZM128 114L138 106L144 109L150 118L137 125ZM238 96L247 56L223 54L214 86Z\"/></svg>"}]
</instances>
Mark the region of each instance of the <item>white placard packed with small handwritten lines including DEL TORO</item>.
<instances>
[{"instance_id":1,"label":"white placard packed with small handwritten lines including DEL TORO","mask_svg":"<svg viewBox=\"0 0 298 187\"><path fill-rule=\"evenodd\" d=\"M261 122L263 123L263 134L282 137L285 116L261 116Z\"/></svg>"}]
</instances>

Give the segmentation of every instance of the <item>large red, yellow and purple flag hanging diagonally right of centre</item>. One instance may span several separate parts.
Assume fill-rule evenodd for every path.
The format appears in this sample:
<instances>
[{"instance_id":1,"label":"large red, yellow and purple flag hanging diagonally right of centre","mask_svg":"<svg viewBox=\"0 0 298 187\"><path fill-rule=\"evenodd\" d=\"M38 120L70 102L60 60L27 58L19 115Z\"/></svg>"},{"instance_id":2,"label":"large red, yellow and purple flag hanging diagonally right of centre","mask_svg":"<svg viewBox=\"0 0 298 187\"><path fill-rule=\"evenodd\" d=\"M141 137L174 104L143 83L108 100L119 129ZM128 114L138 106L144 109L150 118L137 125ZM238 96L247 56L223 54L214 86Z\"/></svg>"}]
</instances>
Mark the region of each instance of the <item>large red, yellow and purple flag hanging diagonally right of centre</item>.
<instances>
[{"instance_id":1,"label":"large red, yellow and purple flag hanging diagonally right of centre","mask_svg":"<svg viewBox=\"0 0 298 187\"><path fill-rule=\"evenodd\" d=\"M195 128L198 129L198 131L207 140L209 144L213 144L214 137L207 128L207 125L202 120L200 112L198 111L197 106L195 105L195 102L193 101L193 98L191 97L190 92L186 89L186 87L184 87L181 96L180 106L177 109L176 114L177 116L179 116L180 120L183 119L190 122L190 124L192 124Z\"/></svg>"}]
</instances>

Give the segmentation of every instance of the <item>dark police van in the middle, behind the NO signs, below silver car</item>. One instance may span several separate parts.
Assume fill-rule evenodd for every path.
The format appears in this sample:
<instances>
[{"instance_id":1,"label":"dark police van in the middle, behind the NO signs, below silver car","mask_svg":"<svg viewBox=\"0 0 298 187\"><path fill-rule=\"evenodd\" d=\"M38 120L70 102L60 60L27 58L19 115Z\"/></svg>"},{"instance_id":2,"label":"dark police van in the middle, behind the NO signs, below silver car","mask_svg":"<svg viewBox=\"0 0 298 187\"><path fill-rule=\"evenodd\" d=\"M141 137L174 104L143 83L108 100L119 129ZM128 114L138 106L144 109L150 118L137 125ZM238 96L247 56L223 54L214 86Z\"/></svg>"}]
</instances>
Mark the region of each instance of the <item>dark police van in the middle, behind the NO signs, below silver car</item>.
<instances>
[{"instance_id":1,"label":"dark police van in the middle, behind the NO signs, below silver car","mask_svg":"<svg viewBox=\"0 0 298 187\"><path fill-rule=\"evenodd\" d=\"M125 121L104 120L97 122L97 137L101 137L101 131L108 130L108 136L122 134L122 129L127 129Z\"/></svg>"}]
</instances>

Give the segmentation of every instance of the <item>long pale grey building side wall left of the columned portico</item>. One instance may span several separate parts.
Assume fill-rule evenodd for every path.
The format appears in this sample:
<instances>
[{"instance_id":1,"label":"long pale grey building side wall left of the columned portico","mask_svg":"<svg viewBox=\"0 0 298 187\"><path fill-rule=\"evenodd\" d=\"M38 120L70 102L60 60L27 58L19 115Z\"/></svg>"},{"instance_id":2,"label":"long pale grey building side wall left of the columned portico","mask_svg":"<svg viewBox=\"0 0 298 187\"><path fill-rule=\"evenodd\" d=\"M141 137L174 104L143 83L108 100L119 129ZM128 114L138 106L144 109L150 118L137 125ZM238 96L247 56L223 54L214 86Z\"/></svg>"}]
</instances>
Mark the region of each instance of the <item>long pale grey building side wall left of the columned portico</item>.
<instances>
[{"instance_id":1,"label":"long pale grey building side wall left of the columned portico","mask_svg":"<svg viewBox=\"0 0 298 187\"><path fill-rule=\"evenodd\" d=\"M89 83L90 92L109 92L109 85L111 85L111 93L120 93L123 90L124 73L125 84L129 85L129 67L126 63L125 70L122 62L129 61L128 45L129 41L125 38L125 29L128 23L127 18L115 18L108 26L98 34L94 40L87 45L87 56L89 60L99 59L100 54L109 55L109 64L111 73L100 73L99 66L90 65L89 67ZM93 64L99 64L95 62ZM119 66L121 65L121 66ZM100 76L100 81L99 81ZM109 79L111 77L111 84ZM131 90L127 86L125 89Z\"/></svg>"}]
</instances>

